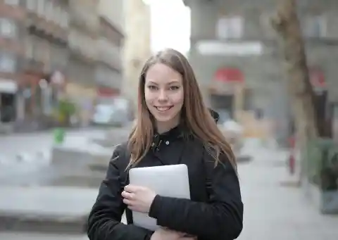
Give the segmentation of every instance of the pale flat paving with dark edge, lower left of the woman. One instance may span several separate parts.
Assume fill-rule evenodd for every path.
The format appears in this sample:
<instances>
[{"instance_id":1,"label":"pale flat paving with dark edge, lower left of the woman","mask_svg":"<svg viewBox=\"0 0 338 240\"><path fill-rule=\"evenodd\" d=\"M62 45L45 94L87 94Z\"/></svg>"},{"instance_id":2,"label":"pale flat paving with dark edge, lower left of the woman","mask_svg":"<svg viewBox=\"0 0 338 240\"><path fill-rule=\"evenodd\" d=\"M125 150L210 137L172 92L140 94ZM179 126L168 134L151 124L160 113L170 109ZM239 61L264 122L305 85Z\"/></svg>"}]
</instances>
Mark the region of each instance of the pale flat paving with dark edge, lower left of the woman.
<instances>
[{"instance_id":1,"label":"pale flat paving with dark edge, lower left of the woman","mask_svg":"<svg viewBox=\"0 0 338 240\"><path fill-rule=\"evenodd\" d=\"M66 240L63 234L85 235L97 189L0 187L0 195L0 239L15 239L21 232L35 239L60 234Z\"/></svg>"}]
</instances>

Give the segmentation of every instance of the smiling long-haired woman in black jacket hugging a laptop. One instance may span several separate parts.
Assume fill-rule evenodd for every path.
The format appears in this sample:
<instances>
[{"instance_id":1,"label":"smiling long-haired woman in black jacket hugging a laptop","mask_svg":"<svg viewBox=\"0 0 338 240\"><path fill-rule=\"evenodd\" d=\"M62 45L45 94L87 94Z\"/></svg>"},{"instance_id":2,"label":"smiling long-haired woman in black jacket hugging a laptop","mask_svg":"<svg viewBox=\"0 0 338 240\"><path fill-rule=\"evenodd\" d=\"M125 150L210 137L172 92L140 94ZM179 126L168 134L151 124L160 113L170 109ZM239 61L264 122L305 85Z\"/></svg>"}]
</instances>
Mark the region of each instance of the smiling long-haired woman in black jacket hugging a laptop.
<instances>
[{"instance_id":1,"label":"smiling long-haired woman in black jacket hugging a laptop","mask_svg":"<svg viewBox=\"0 0 338 240\"><path fill-rule=\"evenodd\" d=\"M212 113L218 118L216 113ZM185 164L191 200L128 185L130 168ZM126 210L128 225L120 223ZM131 210L163 228L132 225ZM204 106L192 67L173 49L158 52L139 77L137 122L116 147L88 221L91 240L230 240L243 227L234 155Z\"/></svg>"}]
</instances>

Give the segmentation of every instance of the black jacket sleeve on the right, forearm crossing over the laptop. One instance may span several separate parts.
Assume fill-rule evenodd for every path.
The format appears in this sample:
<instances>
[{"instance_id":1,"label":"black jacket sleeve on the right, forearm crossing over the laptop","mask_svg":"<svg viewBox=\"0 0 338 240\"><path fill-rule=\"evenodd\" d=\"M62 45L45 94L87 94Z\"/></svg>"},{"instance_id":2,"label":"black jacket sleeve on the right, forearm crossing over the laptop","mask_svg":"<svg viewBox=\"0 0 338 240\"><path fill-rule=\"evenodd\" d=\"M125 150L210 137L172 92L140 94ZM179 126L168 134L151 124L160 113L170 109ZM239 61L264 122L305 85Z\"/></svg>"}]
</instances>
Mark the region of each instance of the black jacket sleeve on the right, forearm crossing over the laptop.
<instances>
[{"instance_id":1,"label":"black jacket sleeve on the right, forearm crossing over the laptop","mask_svg":"<svg viewBox=\"0 0 338 240\"><path fill-rule=\"evenodd\" d=\"M149 216L156 218L158 225L201 239L237 239L243 228L243 203L237 173L225 155L220 156L223 163L216 167L211 155L205 155L208 202L157 195Z\"/></svg>"}]
</instances>

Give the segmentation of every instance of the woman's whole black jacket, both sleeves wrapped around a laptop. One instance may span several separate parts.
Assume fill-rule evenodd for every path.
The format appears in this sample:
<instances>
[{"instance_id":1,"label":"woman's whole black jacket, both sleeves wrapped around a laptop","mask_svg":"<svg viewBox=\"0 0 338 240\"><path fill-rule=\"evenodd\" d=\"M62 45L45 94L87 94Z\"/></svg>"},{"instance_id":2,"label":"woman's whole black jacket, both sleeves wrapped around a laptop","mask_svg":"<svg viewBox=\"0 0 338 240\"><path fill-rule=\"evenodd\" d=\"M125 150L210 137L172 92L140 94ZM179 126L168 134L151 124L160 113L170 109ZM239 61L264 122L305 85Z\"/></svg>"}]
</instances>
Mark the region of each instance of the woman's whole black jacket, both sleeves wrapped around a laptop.
<instances>
[{"instance_id":1,"label":"woman's whole black jacket, both sleeves wrapped around a laptop","mask_svg":"<svg viewBox=\"0 0 338 240\"><path fill-rule=\"evenodd\" d=\"M88 221L90 240L149 240L152 232L120 222L126 209L121 193L128 183L125 168L129 163L127 144L116 147L106 179ZM198 236L199 240L232 240L242 232L243 204L236 172L225 156L223 165L214 168L214 159L203 144L180 127L154 136L154 148L137 167L186 164L191 200L156 196L149 215L158 225Z\"/></svg>"}]
</instances>

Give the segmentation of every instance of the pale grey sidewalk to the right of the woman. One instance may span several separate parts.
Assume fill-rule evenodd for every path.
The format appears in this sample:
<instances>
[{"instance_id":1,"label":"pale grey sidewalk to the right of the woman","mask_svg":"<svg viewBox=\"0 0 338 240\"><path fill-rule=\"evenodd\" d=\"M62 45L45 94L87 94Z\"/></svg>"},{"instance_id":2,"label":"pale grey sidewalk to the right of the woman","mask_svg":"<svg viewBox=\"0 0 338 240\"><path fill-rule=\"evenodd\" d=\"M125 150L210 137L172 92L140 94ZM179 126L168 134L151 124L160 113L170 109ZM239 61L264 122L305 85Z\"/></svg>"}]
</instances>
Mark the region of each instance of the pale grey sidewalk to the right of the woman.
<instances>
[{"instance_id":1,"label":"pale grey sidewalk to the right of the woman","mask_svg":"<svg viewBox=\"0 0 338 240\"><path fill-rule=\"evenodd\" d=\"M289 179L281 151L261 150L239 165L244 201L244 230L239 240L334 240L338 216L320 215L301 189L285 187Z\"/></svg>"}]
</instances>

